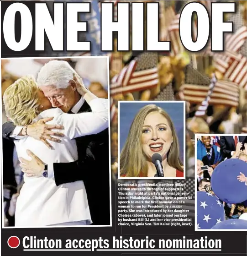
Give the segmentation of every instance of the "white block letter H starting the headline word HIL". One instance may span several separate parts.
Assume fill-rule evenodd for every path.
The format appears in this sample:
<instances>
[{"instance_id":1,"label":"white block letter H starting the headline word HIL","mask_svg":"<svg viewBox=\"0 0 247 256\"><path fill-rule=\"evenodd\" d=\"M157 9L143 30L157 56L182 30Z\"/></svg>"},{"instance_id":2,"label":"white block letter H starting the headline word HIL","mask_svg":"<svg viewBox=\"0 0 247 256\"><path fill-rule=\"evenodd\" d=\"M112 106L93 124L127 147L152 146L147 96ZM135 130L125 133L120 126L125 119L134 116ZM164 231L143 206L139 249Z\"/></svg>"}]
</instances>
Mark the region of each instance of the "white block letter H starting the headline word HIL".
<instances>
[{"instance_id":1,"label":"white block letter H starting the headline word HIL","mask_svg":"<svg viewBox=\"0 0 247 256\"><path fill-rule=\"evenodd\" d=\"M101 3L101 51L113 51L114 31L117 50L129 51L129 3L117 4L117 22L113 22L113 3Z\"/></svg>"}]
</instances>

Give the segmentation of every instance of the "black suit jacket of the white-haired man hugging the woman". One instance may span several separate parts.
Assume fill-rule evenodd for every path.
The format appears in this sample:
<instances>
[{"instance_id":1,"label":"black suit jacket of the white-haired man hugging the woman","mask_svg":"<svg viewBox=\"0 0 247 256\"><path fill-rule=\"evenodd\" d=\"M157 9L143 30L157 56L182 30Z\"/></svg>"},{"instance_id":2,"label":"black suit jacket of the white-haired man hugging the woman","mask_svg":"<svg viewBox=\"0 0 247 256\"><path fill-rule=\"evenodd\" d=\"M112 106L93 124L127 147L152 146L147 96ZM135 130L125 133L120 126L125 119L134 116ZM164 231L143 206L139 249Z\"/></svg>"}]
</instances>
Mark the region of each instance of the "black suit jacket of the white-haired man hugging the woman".
<instances>
[{"instance_id":1,"label":"black suit jacket of the white-haired man hugging the woman","mask_svg":"<svg viewBox=\"0 0 247 256\"><path fill-rule=\"evenodd\" d=\"M84 102L79 110L91 112ZM11 123L3 125L3 136L15 129ZM110 224L109 134L108 129L95 135L76 138L79 160L72 163L53 163L56 185L83 180L94 225Z\"/></svg>"}]
</instances>

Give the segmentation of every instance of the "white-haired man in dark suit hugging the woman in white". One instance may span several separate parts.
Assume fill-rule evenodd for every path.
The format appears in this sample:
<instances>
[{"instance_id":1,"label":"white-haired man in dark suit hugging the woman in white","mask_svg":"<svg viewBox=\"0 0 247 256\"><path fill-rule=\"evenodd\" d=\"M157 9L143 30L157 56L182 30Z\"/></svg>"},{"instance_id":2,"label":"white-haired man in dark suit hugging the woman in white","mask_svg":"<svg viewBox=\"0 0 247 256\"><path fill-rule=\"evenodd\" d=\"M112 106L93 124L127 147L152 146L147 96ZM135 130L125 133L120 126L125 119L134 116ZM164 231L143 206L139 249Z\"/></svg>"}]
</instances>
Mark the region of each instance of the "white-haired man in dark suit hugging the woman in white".
<instances>
[{"instance_id":1,"label":"white-haired man in dark suit hugging the woman in white","mask_svg":"<svg viewBox=\"0 0 247 256\"><path fill-rule=\"evenodd\" d=\"M62 60L48 62L40 70L37 83L53 107L70 114L92 111L79 94L83 85L74 69ZM39 120L26 127L15 127L8 122L3 125L3 136L14 139L19 136L32 136L51 147L47 140L59 142L52 136L62 136L54 132L54 125L46 125L47 119ZM56 129L61 127L56 126ZM44 177L53 177L56 185L83 180L87 191L89 209L94 225L110 224L110 177L109 177L109 133L108 129L96 135L76 139L79 160L72 163L53 163L47 166L31 153L32 160L26 161L24 172L34 175L34 170ZM22 166L23 167L23 166ZM33 171L33 172L32 172Z\"/></svg>"}]
</instances>

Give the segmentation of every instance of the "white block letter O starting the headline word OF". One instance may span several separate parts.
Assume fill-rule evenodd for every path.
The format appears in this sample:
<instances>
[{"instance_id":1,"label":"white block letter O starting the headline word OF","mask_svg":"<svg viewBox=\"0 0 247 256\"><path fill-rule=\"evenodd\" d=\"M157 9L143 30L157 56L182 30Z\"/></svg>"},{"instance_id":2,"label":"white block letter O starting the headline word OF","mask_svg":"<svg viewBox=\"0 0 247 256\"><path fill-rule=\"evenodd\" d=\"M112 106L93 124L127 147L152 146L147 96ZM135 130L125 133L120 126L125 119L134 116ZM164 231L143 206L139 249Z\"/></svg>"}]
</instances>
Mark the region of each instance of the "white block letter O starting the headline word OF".
<instances>
[{"instance_id":1,"label":"white block letter O starting the headline word OF","mask_svg":"<svg viewBox=\"0 0 247 256\"><path fill-rule=\"evenodd\" d=\"M193 12L197 14L197 38L195 22L192 20ZM192 33L192 28L193 32ZM189 3L184 6L179 20L179 34L184 48L191 52L202 50L208 43L210 33L209 13L204 5L200 3ZM196 41L193 41L193 38Z\"/></svg>"}]
</instances>

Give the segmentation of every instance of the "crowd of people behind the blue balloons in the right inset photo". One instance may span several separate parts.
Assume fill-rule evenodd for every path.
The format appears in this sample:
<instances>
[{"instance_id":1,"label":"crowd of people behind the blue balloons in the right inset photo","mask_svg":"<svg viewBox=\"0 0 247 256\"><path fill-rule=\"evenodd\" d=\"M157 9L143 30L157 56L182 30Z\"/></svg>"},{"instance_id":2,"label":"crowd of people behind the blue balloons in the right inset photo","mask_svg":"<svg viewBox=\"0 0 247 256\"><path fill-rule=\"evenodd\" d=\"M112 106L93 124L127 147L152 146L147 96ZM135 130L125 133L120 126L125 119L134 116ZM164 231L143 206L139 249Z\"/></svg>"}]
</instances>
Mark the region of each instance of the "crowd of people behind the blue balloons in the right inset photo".
<instances>
[{"instance_id":1,"label":"crowd of people behind the blue balloons in the right inset photo","mask_svg":"<svg viewBox=\"0 0 247 256\"><path fill-rule=\"evenodd\" d=\"M211 176L214 169L221 162L230 158L238 158L247 163L247 136L201 136L197 137L197 191L214 194L211 187ZM239 172L236 176L239 182L246 182L247 178ZM245 202L230 204L222 202L226 219L239 218L247 212Z\"/></svg>"}]
</instances>

